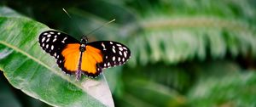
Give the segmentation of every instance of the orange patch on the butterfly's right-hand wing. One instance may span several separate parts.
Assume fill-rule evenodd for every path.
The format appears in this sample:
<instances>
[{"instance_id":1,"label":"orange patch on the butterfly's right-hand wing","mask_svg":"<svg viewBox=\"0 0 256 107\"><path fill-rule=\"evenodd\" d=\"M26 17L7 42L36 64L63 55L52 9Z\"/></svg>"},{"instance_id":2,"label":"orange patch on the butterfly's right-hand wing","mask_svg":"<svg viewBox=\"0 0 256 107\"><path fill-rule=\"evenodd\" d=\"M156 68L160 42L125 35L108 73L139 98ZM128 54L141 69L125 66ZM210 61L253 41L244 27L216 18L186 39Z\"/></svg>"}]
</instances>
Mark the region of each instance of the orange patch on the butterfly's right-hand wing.
<instances>
[{"instance_id":1,"label":"orange patch on the butterfly's right-hand wing","mask_svg":"<svg viewBox=\"0 0 256 107\"><path fill-rule=\"evenodd\" d=\"M102 52L97 48L86 46L82 58L82 70L88 73L96 74L96 64L102 63Z\"/></svg>"}]
</instances>

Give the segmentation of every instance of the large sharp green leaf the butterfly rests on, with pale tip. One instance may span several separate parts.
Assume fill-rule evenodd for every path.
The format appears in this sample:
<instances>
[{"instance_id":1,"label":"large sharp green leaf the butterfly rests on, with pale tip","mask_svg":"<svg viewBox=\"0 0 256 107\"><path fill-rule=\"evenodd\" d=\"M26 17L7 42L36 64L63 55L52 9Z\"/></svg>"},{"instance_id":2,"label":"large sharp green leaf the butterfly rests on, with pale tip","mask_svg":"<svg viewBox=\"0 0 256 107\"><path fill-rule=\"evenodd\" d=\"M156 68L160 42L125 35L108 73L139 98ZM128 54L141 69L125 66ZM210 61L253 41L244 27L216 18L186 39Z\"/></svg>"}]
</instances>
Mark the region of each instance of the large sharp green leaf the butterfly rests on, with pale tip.
<instances>
[{"instance_id":1,"label":"large sharp green leaf the butterfly rests on, with pale tip","mask_svg":"<svg viewBox=\"0 0 256 107\"><path fill-rule=\"evenodd\" d=\"M38 35L49 28L13 16L0 15L0 70L12 86L53 106L113 106L103 75L76 81L64 74L38 44Z\"/></svg>"}]
</instances>

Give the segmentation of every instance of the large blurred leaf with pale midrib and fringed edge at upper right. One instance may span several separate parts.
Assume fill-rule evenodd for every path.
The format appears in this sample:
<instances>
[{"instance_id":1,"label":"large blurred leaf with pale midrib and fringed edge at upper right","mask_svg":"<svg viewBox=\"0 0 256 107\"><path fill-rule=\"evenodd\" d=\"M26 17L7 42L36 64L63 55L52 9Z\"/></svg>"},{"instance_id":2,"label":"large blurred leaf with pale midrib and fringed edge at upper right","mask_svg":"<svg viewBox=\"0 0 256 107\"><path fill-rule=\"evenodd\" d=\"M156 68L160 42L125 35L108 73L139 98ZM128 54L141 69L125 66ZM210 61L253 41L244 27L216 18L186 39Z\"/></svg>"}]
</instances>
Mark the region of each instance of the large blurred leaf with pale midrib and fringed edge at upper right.
<instances>
[{"instance_id":1,"label":"large blurred leaf with pale midrib and fringed edge at upper right","mask_svg":"<svg viewBox=\"0 0 256 107\"><path fill-rule=\"evenodd\" d=\"M128 43L131 66L256 56L256 9L247 1L143 2L137 11L142 12L137 21L143 31Z\"/></svg>"}]
</instances>

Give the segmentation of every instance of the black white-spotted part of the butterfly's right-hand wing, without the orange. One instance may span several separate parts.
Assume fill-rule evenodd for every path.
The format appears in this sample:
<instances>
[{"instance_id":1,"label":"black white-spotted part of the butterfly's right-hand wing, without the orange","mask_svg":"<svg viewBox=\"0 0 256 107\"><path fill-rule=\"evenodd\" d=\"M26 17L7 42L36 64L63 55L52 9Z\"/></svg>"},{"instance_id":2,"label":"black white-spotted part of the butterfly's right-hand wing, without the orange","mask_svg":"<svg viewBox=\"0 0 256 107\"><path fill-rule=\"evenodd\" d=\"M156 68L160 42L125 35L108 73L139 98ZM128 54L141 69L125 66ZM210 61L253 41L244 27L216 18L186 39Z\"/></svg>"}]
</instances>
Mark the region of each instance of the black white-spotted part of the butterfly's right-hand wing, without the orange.
<instances>
[{"instance_id":1,"label":"black white-spotted part of the butterfly's right-hand wing, without the orange","mask_svg":"<svg viewBox=\"0 0 256 107\"><path fill-rule=\"evenodd\" d=\"M100 69L123 65L131 57L130 49L119 42L97 41L87 45L101 50L103 61L98 64Z\"/></svg>"}]
</instances>

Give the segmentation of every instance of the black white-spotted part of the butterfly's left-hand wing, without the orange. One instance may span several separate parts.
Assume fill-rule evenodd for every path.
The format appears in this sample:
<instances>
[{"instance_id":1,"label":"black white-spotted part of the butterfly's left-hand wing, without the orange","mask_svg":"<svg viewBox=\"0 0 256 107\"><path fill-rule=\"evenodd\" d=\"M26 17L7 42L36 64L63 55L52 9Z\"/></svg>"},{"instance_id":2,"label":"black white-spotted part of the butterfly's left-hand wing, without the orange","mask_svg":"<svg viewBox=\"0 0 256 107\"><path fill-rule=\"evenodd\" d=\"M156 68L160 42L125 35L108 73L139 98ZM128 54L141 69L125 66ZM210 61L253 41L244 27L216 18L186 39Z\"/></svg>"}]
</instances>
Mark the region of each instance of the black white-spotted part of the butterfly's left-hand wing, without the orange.
<instances>
[{"instance_id":1,"label":"black white-spotted part of the butterfly's left-hand wing, without the orange","mask_svg":"<svg viewBox=\"0 0 256 107\"><path fill-rule=\"evenodd\" d=\"M67 47L67 44L79 44L78 40L61 31L44 31L38 37L38 42L46 53L55 57L56 63L61 70L65 71L67 74L74 73L74 71L65 68L65 60L61 52Z\"/></svg>"}]
</instances>

